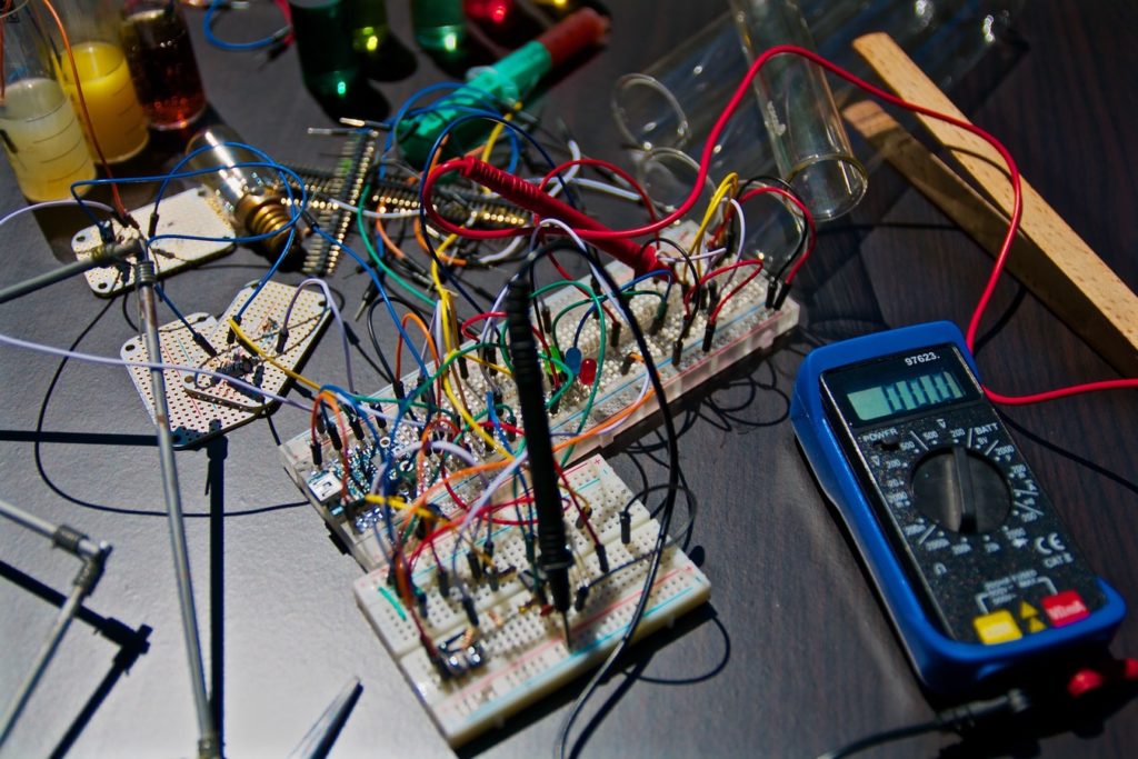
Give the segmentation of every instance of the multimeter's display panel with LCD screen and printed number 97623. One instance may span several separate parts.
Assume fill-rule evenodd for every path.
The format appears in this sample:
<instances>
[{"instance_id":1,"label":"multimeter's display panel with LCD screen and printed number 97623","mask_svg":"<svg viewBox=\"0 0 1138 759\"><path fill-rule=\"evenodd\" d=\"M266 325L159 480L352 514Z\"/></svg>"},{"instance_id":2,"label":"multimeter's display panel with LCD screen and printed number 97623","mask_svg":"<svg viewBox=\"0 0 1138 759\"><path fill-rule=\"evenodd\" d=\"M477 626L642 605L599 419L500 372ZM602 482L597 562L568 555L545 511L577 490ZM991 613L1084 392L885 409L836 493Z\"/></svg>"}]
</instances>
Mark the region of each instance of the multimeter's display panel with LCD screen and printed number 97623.
<instances>
[{"instance_id":1,"label":"multimeter's display panel with LCD screen and printed number 97623","mask_svg":"<svg viewBox=\"0 0 1138 759\"><path fill-rule=\"evenodd\" d=\"M830 371L825 380L855 423L883 422L979 396L949 345Z\"/></svg>"}]
</instances>

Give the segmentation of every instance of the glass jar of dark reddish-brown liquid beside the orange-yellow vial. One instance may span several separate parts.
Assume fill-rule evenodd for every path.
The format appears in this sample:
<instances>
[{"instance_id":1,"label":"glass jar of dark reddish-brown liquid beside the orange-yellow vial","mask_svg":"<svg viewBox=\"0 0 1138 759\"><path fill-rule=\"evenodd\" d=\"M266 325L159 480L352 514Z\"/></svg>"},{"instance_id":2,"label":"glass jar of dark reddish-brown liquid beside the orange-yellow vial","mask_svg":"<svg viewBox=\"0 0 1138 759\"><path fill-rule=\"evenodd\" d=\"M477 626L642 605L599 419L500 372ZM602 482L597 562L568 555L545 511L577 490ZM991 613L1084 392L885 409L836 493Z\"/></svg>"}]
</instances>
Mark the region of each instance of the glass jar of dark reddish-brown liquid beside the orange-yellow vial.
<instances>
[{"instance_id":1,"label":"glass jar of dark reddish-brown liquid beside the orange-yellow vial","mask_svg":"<svg viewBox=\"0 0 1138 759\"><path fill-rule=\"evenodd\" d=\"M192 123L206 109L206 96L178 0L126 0L121 30L150 124L175 130Z\"/></svg>"}]
</instances>

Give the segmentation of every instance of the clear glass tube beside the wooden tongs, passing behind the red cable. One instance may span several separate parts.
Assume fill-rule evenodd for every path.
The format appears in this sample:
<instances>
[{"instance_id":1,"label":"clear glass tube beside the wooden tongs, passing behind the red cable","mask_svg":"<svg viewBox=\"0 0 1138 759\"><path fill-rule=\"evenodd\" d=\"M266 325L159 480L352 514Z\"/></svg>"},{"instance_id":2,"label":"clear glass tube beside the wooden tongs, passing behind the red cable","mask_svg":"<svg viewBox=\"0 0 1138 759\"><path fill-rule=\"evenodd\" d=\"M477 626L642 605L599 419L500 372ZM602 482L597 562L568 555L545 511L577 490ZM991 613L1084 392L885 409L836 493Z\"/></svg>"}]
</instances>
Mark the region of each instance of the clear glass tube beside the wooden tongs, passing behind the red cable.
<instances>
[{"instance_id":1,"label":"clear glass tube beside the wooden tongs, passing behind the red cable","mask_svg":"<svg viewBox=\"0 0 1138 759\"><path fill-rule=\"evenodd\" d=\"M751 60L777 44L815 49L795 0L729 1ZM758 73L754 86L782 178L819 221L852 211L865 195L865 167L853 156L822 68L778 56Z\"/></svg>"}]
</instances>

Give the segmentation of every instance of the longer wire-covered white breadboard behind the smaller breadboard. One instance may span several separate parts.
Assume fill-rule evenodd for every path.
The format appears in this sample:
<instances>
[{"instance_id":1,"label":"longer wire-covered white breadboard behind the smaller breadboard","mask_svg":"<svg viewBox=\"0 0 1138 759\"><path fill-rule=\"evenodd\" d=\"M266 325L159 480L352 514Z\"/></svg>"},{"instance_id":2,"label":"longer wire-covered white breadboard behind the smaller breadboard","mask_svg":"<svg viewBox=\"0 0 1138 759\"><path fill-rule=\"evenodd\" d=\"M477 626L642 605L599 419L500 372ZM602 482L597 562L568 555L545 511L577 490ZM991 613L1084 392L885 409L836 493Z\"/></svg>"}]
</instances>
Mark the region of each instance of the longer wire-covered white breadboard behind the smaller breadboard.
<instances>
[{"instance_id":1,"label":"longer wire-covered white breadboard behind the smaller breadboard","mask_svg":"<svg viewBox=\"0 0 1138 759\"><path fill-rule=\"evenodd\" d=\"M624 264L615 262L609 264L607 269L618 283L632 279L632 270ZM744 275L745 272L737 278L736 284L743 280ZM587 279L580 281L587 283ZM684 313L679 287L673 288L668 298L667 317L654 335L651 333L651 324L657 307L661 303L662 294L666 291L666 282L648 280L638 283L635 289L640 292L660 294L654 296L637 295L630 297L628 303L645 332L645 339L660 370L660 378L669 402L698 388L716 373L728 369L751 353L769 348L775 338L793 329L799 320L799 306L790 298L777 311L766 308L767 280L761 277L756 278L725 305L717 322L715 338L709 349L704 352L702 344L707 323L706 311L700 312L696 316L687 336L683 339L679 337ZM554 317L564 312L564 316L553 328L562 349L572 345L576 339L577 347L583 355L600 355L602 340L596 319L589 317L580 330L579 338L576 336L577 325L591 305L591 300L582 296L578 290L566 287L544 298L543 303L549 306ZM535 323L537 323L536 319ZM599 430L597 434L582 440L572 449L570 462L579 461L608 445L620 430L649 416L658 407L654 398L649 399L633 413L624 416L619 424L608 423L610 419L635 404L645 389L644 364L640 361L626 361L629 354L638 355L632 330L627 324L622 324L616 344L611 340L611 335L610 325L603 341L604 360L599 362L596 391L592 398L591 387L574 382L558 406L550 409L550 428L554 435L560 434L563 438L577 432L579 428L584 428L586 431ZM675 361L677 340L682 346L678 362ZM501 355L500 352L498 356L501 357ZM428 368L432 369L434 366L428 364ZM409 391L410 388L415 387L417 377L417 373L405 376L404 385ZM487 381L487 377L480 371L478 364L470 362L464 379L457 372L452 372L450 381L461 385L462 397L467 398L472 415L481 416L485 414L486 397L493 386ZM495 378L495 381L502 391L504 403L517 409L517 390L513 383L503 381L501 378ZM552 388L549 387L547 378L546 385L546 397L551 397ZM453 411L442 393L436 395L438 396L435 399L436 403L448 412ZM388 412L394 412L398 405L390 387L381 389L374 397L382 398L384 407ZM592 403L592 407L589 407L589 403ZM586 409L588 409L587 418L585 416ZM403 424L394 436L390 430L385 430L381 448L376 448L371 443L364 440L349 440L346 447L349 449L349 456L364 456L378 463L389 451L397 452L414 445L418 442L418 428ZM339 454L324 438L321 444L321 464L316 465L313 462L310 443L308 432L302 432L281 446L284 469L360 564L365 570L380 567L385 561L384 551L374 531L369 528L372 520L353 517L348 510L341 508L340 472L333 471L340 465L338 463L340 461ZM473 435L468 434L457 443L486 461L497 457L495 452L485 448L481 439ZM378 463L378 465L382 464ZM349 484L349 488L354 488L354 485ZM357 498L362 496L362 493L353 492L352 496Z\"/></svg>"}]
</instances>

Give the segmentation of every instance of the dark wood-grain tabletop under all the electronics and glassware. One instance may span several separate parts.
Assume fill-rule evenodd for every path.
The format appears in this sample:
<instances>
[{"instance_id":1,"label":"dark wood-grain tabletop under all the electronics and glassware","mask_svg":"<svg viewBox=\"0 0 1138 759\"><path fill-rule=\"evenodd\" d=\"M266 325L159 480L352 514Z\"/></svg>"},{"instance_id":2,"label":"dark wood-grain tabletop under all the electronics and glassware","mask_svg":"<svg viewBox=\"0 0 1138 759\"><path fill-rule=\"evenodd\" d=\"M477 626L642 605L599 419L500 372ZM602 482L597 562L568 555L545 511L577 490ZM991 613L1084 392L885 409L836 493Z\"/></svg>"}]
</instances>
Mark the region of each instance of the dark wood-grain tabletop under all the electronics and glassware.
<instances>
[{"instance_id":1,"label":"dark wood-grain tabletop under all the electronics and glassware","mask_svg":"<svg viewBox=\"0 0 1138 759\"><path fill-rule=\"evenodd\" d=\"M395 35L412 47L403 3L388 5ZM586 152L625 160L608 115L613 79L643 68L721 9L648 0L615 0L611 7L608 49L552 88L544 112L562 117ZM273 27L273 13L255 6L223 28L251 35L254 27ZM200 13L189 16L200 25ZM983 61L954 97L1005 141L1033 185L1135 286L1138 5L1040 0L1026 3L1015 27L1023 47L1011 59ZM195 43L216 113L279 159L319 159L327 143L305 137L304 129L330 119L300 88L295 51L261 65L251 55L209 49L199 31ZM397 104L439 76L420 58L410 77L381 90ZM157 142L150 163L173 155L170 145ZM7 167L0 174L0 211L7 212L23 200ZM76 228L69 214L6 226L0 279L15 281L63 261L63 241ZM879 170L861 208L824 229L795 295L808 331L824 340L933 319L963 324L989 263L914 191ZM167 290L185 310L220 313L261 271L263 259L240 250L174 278ZM345 266L336 287L354 305L364 282ZM133 321L134 306L133 297L107 304L71 281L0 307L0 331L117 355L134 333L125 319ZM1115 376L1012 280L999 287L986 331L991 333L979 363L986 380L1006 393ZM683 410L684 470L701 503L695 553L714 584L712 600L670 634L640 646L605 685L591 709L604 704L608 711L585 756L815 756L930 718L932 708L786 422L787 394L806 346L797 339ZM338 377L337 349L336 340L323 340L310 365ZM373 376L369 380L378 386ZM1138 396L1082 396L1011 409L1007 418L1091 566L1138 603ZM358 568L332 547L311 509L295 505L298 494L278 464L272 428L290 437L305 423L282 411L272 426L258 421L232 432L228 449L178 454L226 752L286 754L347 677L358 674L363 698L333 756L450 756L355 608L351 584ZM193 751L166 525L155 515L162 498L150 432L122 370L60 368L51 356L0 348L0 497L114 544L89 607L131 627L152 628L149 651L116 680L118 649L76 624L5 756L46 756L68 731L74 756ZM636 477L637 460L644 454L615 455L628 477ZM224 519L205 518L211 465L213 497L230 514ZM281 508L240 513L273 505ZM9 525L0 525L0 559L57 588L74 571L65 555ZM0 692L14 687L50 618L47 604L0 584ZM1112 650L1138 654L1138 616L1123 622ZM108 682L98 699L100 683ZM547 756L575 693L543 701L463 753ZM89 703L93 711L84 716ZM1044 725L1004 724L966 743L921 737L875 756L1124 757L1136 746L1138 706L1122 701Z\"/></svg>"}]
</instances>

